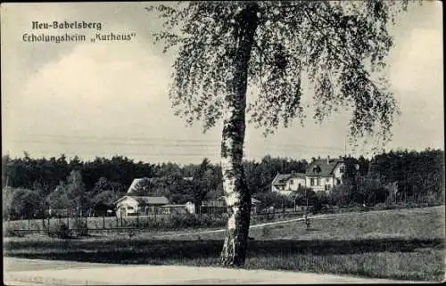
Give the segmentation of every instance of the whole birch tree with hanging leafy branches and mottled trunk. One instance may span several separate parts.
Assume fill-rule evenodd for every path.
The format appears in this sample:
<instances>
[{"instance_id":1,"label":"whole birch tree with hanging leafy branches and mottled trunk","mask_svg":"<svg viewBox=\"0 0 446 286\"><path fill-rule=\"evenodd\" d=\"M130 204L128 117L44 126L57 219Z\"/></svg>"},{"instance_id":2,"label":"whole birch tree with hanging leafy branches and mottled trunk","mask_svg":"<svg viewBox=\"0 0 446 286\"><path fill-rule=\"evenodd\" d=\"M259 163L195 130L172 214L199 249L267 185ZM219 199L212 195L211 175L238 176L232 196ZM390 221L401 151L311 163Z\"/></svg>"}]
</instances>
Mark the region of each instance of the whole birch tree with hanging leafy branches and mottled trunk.
<instances>
[{"instance_id":1,"label":"whole birch tree with hanging leafy branches and mottled trunk","mask_svg":"<svg viewBox=\"0 0 446 286\"><path fill-rule=\"evenodd\" d=\"M190 2L148 7L163 21L153 36L174 48L169 98L188 124L223 122L221 170L229 214L223 266L244 266L251 197L242 158L246 123L264 134L303 124L303 82L314 118L351 109L352 137L388 141L398 112L383 77L388 26L406 2ZM252 91L247 97L247 88ZM249 99L249 101L247 100ZM248 115L249 118L246 118Z\"/></svg>"}]
</instances>

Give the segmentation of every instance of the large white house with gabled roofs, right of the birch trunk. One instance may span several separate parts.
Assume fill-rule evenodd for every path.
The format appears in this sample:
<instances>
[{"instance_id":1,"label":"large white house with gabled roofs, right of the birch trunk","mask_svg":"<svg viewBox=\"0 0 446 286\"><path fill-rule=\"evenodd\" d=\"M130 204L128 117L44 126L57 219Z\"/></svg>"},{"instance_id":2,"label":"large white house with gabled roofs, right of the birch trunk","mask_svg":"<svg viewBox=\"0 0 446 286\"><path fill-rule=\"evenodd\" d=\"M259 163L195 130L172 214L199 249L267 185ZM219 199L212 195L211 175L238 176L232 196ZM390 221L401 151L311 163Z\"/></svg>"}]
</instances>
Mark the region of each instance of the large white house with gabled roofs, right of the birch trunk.
<instances>
[{"instance_id":1,"label":"large white house with gabled roofs, right of the birch trunk","mask_svg":"<svg viewBox=\"0 0 446 286\"><path fill-rule=\"evenodd\" d=\"M329 192L343 183L345 162L340 159L313 159L305 173L278 174L271 183L271 191L290 195L303 187L314 192Z\"/></svg>"}]
</instances>

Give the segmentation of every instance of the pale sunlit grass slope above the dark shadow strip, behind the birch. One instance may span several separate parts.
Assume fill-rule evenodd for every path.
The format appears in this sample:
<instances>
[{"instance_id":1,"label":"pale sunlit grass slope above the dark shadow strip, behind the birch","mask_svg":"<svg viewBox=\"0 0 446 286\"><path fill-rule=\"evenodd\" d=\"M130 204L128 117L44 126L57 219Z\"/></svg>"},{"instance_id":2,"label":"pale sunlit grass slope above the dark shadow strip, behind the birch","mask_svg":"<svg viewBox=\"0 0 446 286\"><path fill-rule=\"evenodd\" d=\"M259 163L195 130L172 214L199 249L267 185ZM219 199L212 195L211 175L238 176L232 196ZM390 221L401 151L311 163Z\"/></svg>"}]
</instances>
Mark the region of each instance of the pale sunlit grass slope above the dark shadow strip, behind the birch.
<instances>
[{"instance_id":1,"label":"pale sunlit grass slope above the dark shadow strip, behind the birch","mask_svg":"<svg viewBox=\"0 0 446 286\"><path fill-rule=\"evenodd\" d=\"M184 240L222 240L224 233L181 236ZM303 221L252 228L255 240L359 240L359 239L444 239L444 207L392 209L346 213L339 217L310 217L310 230Z\"/></svg>"}]
</instances>

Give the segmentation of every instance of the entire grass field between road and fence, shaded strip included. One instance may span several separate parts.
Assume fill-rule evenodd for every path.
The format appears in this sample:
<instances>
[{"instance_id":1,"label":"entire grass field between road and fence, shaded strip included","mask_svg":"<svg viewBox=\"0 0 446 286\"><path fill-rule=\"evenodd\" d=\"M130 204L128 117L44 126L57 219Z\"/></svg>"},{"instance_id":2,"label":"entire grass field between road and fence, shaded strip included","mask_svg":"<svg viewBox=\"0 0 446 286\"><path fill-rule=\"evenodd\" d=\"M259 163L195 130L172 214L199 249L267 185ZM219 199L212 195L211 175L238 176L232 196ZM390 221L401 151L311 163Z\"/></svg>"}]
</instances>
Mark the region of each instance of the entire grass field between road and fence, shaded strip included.
<instances>
[{"instance_id":1,"label":"entire grass field between road and fence, shaded strip included","mask_svg":"<svg viewBox=\"0 0 446 286\"><path fill-rule=\"evenodd\" d=\"M109 235L4 241L4 255L86 262L218 266L223 233L155 239ZM253 228L247 268L417 281L444 278L444 207L349 213Z\"/></svg>"}]
</instances>

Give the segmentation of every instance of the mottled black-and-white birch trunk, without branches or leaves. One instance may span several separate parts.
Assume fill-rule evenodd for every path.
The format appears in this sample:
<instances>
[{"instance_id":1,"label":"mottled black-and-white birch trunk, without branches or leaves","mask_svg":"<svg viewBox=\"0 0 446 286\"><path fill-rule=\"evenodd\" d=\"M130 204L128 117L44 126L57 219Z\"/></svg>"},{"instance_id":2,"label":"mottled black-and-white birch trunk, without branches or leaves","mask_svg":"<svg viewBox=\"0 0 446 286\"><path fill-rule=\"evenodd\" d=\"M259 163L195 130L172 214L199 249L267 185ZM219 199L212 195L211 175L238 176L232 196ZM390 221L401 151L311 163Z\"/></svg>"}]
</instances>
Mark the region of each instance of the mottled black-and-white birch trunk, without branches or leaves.
<instances>
[{"instance_id":1,"label":"mottled black-and-white birch trunk, without branches or leaves","mask_svg":"<svg viewBox=\"0 0 446 286\"><path fill-rule=\"evenodd\" d=\"M227 75L227 95L221 140L221 170L227 201L227 230L221 251L223 266L244 266L250 226L251 194L244 178L246 86L252 43L257 29L257 4L248 4L236 20L232 71Z\"/></svg>"}]
</instances>

